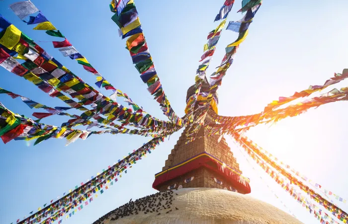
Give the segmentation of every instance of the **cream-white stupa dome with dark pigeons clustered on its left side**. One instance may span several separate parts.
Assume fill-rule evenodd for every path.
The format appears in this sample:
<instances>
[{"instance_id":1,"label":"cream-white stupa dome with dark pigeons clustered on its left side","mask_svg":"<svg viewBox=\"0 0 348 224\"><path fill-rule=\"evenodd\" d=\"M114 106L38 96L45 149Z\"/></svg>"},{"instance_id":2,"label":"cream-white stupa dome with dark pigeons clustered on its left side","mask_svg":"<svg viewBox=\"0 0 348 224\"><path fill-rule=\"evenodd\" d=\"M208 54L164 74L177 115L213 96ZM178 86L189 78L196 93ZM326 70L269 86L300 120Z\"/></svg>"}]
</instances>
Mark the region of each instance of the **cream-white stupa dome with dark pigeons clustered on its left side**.
<instances>
[{"instance_id":1,"label":"cream-white stupa dome with dark pigeons clustered on its left side","mask_svg":"<svg viewBox=\"0 0 348 224\"><path fill-rule=\"evenodd\" d=\"M215 188L183 188L129 202L95 224L301 224L248 195Z\"/></svg>"}]
</instances>

